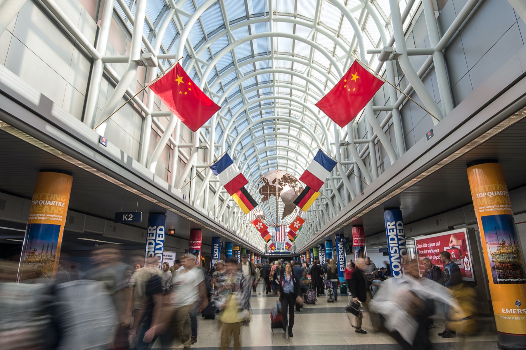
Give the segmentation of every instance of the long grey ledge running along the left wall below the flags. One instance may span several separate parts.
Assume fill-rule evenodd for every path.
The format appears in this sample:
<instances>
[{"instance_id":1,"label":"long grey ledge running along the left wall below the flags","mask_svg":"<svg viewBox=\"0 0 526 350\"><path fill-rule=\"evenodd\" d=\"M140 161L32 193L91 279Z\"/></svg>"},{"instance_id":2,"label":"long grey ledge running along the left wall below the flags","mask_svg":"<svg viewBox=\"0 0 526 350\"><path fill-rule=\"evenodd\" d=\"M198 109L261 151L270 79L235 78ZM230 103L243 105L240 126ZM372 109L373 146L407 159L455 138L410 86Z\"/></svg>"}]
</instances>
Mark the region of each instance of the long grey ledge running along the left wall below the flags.
<instances>
[{"instance_id":1,"label":"long grey ledge running along the left wall below the flags","mask_svg":"<svg viewBox=\"0 0 526 350\"><path fill-rule=\"evenodd\" d=\"M196 211L181 198L156 186L154 181L141 177L130 165L120 163L120 159L115 159L93 147L92 144L98 144L98 142L90 143L84 134L75 130L73 124L63 123L51 114L53 102L46 96L41 95L40 104L35 106L5 84L0 83L0 106L5 112L0 113L1 119L9 124L3 126L0 124L3 131L122 187L167 211L183 216L225 238L235 242L241 241L253 251L261 252L234 232ZM50 126L56 128L53 136L47 133ZM63 138L59 139L60 136ZM86 155L92 155L94 158Z\"/></svg>"}]
</instances>

